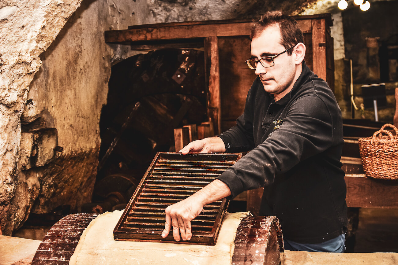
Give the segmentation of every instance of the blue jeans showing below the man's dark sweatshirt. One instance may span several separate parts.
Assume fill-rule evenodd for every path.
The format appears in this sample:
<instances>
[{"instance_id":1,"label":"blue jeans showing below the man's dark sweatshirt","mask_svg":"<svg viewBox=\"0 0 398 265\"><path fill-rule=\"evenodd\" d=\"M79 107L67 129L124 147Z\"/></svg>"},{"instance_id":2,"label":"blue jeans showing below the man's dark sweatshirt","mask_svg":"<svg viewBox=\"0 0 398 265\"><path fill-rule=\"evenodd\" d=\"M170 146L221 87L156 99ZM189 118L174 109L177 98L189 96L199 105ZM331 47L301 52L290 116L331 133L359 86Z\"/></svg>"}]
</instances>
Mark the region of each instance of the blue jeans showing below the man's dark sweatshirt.
<instances>
[{"instance_id":1,"label":"blue jeans showing below the man's dark sweatshirt","mask_svg":"<svg viewBox=\"0 0 398 265\"><path fill-rule=\"evenodd\" d=\"M285 250L301 250L311 252L344 252L345 234L339 235L319 244L301 244L287 239L283 240Z\"/></svg>"}]
</instances>

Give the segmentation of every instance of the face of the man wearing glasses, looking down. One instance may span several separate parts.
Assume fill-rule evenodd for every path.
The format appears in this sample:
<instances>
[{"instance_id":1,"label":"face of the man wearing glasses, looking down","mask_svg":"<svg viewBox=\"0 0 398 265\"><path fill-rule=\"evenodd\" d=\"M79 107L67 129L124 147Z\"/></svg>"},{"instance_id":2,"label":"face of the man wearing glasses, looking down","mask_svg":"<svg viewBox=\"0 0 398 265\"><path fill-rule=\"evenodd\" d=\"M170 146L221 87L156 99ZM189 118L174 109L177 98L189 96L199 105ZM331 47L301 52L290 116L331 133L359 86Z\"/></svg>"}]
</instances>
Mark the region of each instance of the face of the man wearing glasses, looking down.
<instances>
[{"instance_id":1,"label":"face of the man wearing glasses, looking down","mask_svg":"<svg viewBox=\"0 0 398 265\"><path fill-rule=\"evenodd\" d=\"M259 35L252 39L252 59L260 59L265 56L273 56L286 50L280 44L281 33L279 26L271 25L266 27ZM290 51L293 52L295 48ZM274 58L275 65L265 68L257 64L256 75L260 77L265 91L275 95L275 100L281 99L294 85L296 64L293 56L287 52Z\"/></svg>"}]
</instances>

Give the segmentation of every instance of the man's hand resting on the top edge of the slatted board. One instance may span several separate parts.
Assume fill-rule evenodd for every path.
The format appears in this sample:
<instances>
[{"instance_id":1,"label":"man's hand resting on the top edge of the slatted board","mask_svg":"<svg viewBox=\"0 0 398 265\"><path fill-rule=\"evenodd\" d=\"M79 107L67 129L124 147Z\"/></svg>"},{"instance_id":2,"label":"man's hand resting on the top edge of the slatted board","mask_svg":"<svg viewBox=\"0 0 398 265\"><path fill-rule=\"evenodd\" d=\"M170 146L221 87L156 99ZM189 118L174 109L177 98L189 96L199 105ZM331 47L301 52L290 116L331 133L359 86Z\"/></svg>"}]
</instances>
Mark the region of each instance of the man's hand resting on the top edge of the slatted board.
<instances>
[{"instance_id":1,"label":"man's hand resting on the top edge of the slatted board","mask_svg":"<svg viewBox=\"0 0 398 265\"><path fill-rule=\"evenodd\" d=\"M225 152L224 141L218 136L192 141L180 150L183 155L187 153L223 153Z\"/></svg>"}]
</instances>

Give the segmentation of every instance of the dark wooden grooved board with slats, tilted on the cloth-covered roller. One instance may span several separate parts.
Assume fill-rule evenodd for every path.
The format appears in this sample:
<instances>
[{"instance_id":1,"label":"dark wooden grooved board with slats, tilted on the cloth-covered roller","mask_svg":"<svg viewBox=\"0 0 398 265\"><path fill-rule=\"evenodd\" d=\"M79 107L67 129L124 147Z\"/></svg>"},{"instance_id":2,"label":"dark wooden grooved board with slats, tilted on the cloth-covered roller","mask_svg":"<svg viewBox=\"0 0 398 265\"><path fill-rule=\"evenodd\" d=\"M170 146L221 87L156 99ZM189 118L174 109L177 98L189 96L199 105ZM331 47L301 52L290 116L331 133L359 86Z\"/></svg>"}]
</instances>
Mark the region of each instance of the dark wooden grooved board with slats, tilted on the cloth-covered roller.
<instances>
[{"instance_id":1,"label":"dark wooden grooved board with slats, tilted on the cloth-covered roller","mask_svg":"<svg viewBox=\"0 0 398 265\"><path fill-rule=\"evenodd\" d=\"M158 153L146 171L113 235L115 240L167 241L162 238L165 209L200 190L222 174L241 154ZM215 244L229 201L222 199L203 207L191 222L190 244Z\"/></svg>"}]
</instances>

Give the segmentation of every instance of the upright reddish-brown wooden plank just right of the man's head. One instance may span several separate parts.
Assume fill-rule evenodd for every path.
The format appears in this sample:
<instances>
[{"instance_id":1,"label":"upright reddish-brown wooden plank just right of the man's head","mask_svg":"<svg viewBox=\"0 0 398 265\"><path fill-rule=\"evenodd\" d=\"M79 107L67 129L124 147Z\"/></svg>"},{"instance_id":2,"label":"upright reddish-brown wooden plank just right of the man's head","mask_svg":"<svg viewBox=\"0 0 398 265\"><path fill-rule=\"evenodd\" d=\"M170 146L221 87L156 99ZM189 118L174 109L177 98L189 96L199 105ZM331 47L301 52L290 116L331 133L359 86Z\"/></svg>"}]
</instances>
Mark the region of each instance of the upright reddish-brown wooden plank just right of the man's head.
<instances>
[{"instance_id":1,"label":"upright reddish-brown wooden plank just right of the man's head","mask_svg":"<svg viewBox=\"0 0 398 265\"><path fill-rule=\"evenodd\" d=\"M326 37L325 20L312 20L312 58L313 72L326 80Z\"/></svg>"}]
</instances>

